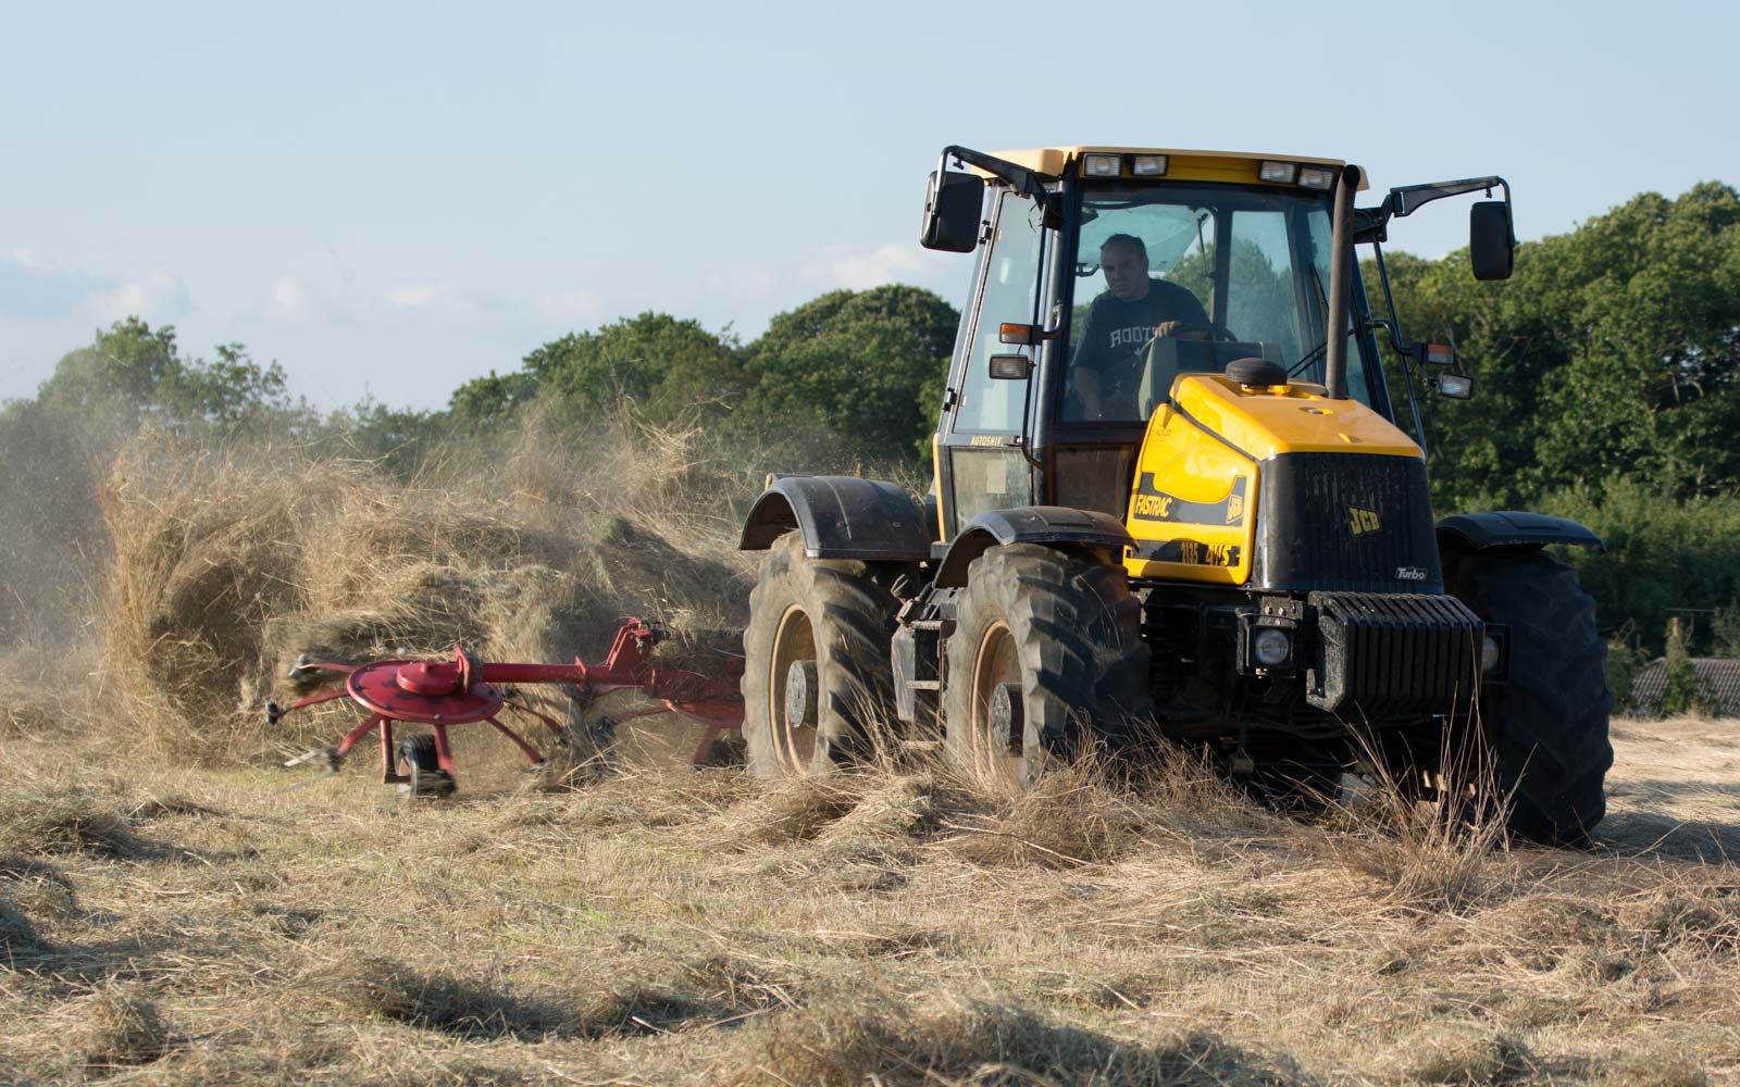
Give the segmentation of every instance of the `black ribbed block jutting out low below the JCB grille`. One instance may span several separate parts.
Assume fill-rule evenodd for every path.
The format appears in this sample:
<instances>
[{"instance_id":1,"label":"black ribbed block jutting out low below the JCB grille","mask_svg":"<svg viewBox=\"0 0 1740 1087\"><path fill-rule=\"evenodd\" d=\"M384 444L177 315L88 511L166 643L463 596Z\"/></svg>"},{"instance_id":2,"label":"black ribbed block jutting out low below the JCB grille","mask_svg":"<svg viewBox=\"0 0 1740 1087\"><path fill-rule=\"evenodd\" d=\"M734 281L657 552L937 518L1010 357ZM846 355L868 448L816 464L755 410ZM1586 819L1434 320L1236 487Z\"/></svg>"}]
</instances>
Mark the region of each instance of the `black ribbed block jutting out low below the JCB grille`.
<instances>
[{"instance_id":1,"label":"black ribbed block jutting out low below the JCB grille","mask_svg":"<svg viewBox=\"0 0 1740 1087\"><path fill-rule=\"evenodd\" d=\"M1317 661L1307 699L1368 715L1439 711L1479 690L1481 617L1436 593L1312 593Z\"/></svg>"}]
</instances>

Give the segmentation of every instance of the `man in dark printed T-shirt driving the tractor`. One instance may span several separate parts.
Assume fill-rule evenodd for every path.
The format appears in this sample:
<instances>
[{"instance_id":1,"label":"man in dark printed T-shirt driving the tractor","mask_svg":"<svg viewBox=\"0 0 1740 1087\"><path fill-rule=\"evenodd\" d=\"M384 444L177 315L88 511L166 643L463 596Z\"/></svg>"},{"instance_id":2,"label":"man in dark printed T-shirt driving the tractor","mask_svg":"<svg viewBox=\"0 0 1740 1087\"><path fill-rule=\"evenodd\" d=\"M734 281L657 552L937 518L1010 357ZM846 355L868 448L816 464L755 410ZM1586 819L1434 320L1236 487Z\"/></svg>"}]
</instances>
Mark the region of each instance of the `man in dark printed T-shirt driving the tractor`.
<instances>
[{"instance_id":1,"label":"man in dark printed T-shirt driving the tractor","mask_svg":"<svg viewBox=\"0 0 1740 1087\"><path fill-rule=\"evenodd\" d=\"M1101 419L1129 400L1140 379L1141 346L1155 336L1206 329L1208 311L1178 283L1148 277L1148 247L1134 235L1100 245L1105 294L1088 306L1081 346L1070 362L1084 419Z\"/></svg>"}]
</instances>

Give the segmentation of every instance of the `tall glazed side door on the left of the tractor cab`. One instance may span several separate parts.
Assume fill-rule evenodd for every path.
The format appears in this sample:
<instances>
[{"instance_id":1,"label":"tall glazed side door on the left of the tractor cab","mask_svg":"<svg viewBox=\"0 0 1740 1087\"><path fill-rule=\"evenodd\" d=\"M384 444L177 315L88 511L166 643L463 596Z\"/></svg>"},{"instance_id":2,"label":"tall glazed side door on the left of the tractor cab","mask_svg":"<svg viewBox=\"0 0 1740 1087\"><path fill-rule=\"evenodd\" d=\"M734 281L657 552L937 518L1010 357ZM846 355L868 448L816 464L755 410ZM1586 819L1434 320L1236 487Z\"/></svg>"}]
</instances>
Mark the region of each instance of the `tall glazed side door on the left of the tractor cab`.
<instances>
[{"instance_id":1,"label":"tall glazed side door on the left of the tractor cab","mask_svg":"<svg viewBox=\"0 0 1740 1087\"><path fill-rule=\"evenodd\" d=\"M1054 231L1044 228L1030 197L1007 188L994 193L990 240L960 322L936 433L936 492L945 541L980 513L1037 501L1039 480L1021 449L1021 442L1030 440L1023 435L1032 435L1037 377L992 377L990 360L1025 355L1030 367L1037 365L1037 348L1002 343L1000 325L1044 323L1044 264Z\"/></svg>"}]
</instances>

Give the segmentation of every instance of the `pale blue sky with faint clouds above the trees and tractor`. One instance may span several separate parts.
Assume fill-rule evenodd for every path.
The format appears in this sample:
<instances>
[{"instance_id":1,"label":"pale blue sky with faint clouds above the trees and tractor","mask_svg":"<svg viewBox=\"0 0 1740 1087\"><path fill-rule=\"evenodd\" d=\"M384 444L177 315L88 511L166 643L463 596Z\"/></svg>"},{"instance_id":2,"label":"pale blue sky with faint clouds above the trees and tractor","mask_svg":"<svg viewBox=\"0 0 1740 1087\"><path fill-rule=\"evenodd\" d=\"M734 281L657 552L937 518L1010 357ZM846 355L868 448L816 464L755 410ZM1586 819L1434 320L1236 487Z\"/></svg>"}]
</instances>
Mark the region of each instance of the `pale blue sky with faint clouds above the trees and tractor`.
<instances>
[{"instance_id":1,"label":"pale blue sky with faint clouds above the trees and tractor","mask_svg":"<svg viewBox=\"0 0 1740 1087\"><path fill-rule=\"evenodd\" d=\"M1730 3L254 7L0 3L0 398L125 313L320 405L433 407L649 308L959 304L967 257L914 240L947 143L1498 172L1524 238L1740 183Z\"/></svg>"}]
</instances>

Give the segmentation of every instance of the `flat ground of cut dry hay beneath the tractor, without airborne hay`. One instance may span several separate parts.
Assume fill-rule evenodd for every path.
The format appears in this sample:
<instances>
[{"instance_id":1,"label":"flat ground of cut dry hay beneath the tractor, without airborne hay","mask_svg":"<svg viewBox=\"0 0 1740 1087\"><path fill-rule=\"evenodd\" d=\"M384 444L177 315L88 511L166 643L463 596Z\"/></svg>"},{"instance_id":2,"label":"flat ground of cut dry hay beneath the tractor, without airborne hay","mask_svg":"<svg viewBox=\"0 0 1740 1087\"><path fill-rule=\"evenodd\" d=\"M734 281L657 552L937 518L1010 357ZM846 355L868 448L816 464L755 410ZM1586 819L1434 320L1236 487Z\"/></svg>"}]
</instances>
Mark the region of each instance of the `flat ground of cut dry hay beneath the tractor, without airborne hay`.
<instances>
[{"instance_id":1,"label":"flat ground of cut dry hay beneath the tractor, without airborne hay","mask_svg":"<svg viewBox=\"0 0 1740 1087\"><path fill-rule=\"evenodd\" d=\"M1623 724L1589 852L1185 767L405 805L5 750L3 1082L1740 1082L1726 722Z\"/></svg>"}]
</instances>

